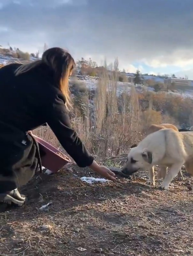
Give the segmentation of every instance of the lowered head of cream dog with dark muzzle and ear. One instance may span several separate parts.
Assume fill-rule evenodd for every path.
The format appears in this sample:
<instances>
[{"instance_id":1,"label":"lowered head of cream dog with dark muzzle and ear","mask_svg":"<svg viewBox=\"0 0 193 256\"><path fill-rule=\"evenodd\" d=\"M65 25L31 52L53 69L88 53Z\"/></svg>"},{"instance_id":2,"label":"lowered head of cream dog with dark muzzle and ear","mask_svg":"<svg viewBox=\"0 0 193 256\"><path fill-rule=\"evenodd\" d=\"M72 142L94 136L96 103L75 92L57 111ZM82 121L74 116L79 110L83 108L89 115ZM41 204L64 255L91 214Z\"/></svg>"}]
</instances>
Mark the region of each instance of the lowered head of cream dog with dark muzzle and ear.
<instances>
[{"instance_id":1,"label":"lowered head of cream dog with dark muzzle and ear","mask_svg":"<svg viewBox=\"0 0 193 256\"><path fill-rule=\"evenodd\" d=\"M132 147L128 156L127 163L122 169L122 173L131 175L139 170L144 170L152 165L152 152L141 150L140 147Z\"/></svg>"}]
</instances>

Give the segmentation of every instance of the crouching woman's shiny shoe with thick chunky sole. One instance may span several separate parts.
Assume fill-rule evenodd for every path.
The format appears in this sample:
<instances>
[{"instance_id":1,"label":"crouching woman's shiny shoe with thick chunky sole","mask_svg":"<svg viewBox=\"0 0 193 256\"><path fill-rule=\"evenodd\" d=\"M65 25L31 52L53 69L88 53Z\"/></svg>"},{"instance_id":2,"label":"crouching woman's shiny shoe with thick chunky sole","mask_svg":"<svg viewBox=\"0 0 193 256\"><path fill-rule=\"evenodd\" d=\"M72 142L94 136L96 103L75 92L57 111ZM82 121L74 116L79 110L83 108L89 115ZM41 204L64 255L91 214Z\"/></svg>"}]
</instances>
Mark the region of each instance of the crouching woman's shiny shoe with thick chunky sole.
<instances>
[{"instance_id":1,"label":"crouching woman's shiny shoe with thick chunky sole","mask_svg":"<svg viewBox=\"0 0 193 256\"><path fill-rule=\"evenodd\" d=\"M14 204L17 206L22 206L25 200L26 197L21 195L18 189L0 194L0 202L7 203L9 205Z\"/></svg>"}]
</instances>

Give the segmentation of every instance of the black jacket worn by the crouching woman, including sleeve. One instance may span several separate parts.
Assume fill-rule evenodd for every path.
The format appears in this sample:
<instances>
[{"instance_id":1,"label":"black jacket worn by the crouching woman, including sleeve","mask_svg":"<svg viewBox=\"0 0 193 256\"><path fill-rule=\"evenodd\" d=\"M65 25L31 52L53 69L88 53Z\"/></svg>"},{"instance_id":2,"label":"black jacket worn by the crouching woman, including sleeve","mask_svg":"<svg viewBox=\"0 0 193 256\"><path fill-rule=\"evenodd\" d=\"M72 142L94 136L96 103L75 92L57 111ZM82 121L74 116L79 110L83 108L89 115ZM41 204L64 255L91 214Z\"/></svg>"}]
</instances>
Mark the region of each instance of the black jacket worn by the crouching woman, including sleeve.
<instances>
[{"instance_id":1,"label":"black jacket worn by the crouching woman, including sleeve","mask_svg":"<svg viewBox=\"0 0 193 256\"><path fill-rule=\"evenodd\" d=\"M71 126L65 97L52 71L42 64L15 76L19 66L10 64L0 68L0 122L23 132L47 123L79 167L91 165L94 158ZM9 140L8 137L9 134Z\"/></svg>"}]
</instances>

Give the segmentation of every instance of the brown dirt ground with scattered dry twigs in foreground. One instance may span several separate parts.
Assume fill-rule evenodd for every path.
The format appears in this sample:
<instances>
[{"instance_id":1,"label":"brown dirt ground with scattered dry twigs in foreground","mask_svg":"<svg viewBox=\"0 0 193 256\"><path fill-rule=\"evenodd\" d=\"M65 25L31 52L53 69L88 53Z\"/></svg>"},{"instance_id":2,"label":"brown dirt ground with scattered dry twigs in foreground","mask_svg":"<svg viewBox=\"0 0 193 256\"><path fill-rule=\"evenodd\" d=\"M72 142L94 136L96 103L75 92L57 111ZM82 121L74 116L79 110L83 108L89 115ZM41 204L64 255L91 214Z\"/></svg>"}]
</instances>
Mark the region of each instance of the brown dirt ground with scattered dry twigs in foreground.
<instances>
[{"instance_id":1,"label":"brown dirt ground with scattered dry twigs in foreground","mask_svg":"<svg viewBox=\"0 0 193 256\"><path fill-rule=\"evenodd\" d=\"M21 190L25 206L0 206L0 255L193 255L193 195L186 185L193 178L186 173L185 182L161 191L145 185L147 173L90 185L80 180L93 176L89 169L66 168L36 175Z\"/></svg>"}]
</instances>

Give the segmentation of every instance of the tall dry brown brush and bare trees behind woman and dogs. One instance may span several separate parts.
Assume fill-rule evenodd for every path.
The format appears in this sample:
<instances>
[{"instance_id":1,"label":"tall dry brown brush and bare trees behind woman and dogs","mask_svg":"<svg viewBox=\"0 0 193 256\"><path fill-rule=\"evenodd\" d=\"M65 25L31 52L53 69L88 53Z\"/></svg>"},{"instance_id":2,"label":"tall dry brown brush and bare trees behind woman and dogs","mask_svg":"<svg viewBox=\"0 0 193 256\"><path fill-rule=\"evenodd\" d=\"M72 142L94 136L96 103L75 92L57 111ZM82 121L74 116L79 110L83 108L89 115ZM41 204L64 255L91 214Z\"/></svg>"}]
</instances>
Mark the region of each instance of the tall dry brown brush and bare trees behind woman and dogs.
<instances>
[{"instance_id":1,"label":"tall dry brown brush and bare trees behind woman and dogs","mask_svg":"<svg viewBox=\"0 0 193 256\"><path fill-rule=\"evenodd\" d=\"M110 79L109 73L103 72L96 90L90 91L84 81L71 82L73 127L92 154L99 159L124 154L131 144L144 137L152 123L172 123L178 127L192 125L193 102L189 98L165 92L139 93L134 87L129 93L125 90L117 95L119 73L116 65L115 62ZM49 128L40 128L37 132L58 145Z\"/></svg>"}]
</instances>

